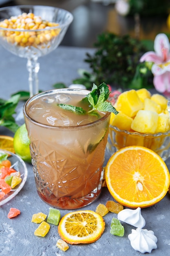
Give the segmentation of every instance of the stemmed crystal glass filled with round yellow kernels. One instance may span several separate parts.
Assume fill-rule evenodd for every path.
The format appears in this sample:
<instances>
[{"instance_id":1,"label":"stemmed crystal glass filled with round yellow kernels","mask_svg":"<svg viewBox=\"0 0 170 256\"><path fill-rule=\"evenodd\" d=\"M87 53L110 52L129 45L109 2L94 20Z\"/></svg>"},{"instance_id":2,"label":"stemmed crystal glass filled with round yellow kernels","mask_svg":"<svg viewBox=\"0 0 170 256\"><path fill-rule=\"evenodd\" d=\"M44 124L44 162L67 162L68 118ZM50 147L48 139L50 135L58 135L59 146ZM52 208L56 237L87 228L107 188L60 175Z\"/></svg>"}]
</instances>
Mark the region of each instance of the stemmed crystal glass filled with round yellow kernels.
<instances>
[{"instance_id":1,"label":"stemmed crystal glass filled with round yellow kernels","mask_svg":"<svg viewBox=\"0 0 170 256\"><path fill-rule=\"evenodd\" d=\"M70 12L56 7L0 8L0 44L9 52L27 58L30 97L39 91L38 58L57 48L72 21Z\"/></svg>"}]
</instances>

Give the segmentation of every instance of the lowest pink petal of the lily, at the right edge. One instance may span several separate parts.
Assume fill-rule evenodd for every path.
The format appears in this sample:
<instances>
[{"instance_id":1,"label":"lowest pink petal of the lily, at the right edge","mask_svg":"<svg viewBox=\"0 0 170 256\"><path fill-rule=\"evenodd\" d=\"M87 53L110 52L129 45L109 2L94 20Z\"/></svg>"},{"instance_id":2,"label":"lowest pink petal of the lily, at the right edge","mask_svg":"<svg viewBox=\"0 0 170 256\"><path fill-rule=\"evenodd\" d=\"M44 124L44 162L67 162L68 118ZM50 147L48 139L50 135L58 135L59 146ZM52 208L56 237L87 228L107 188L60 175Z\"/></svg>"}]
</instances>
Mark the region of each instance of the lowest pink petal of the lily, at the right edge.
<instances>
[{"instance_id":1,"label":"lowest pink petal of the lily, at the right edge","mask_svg":"<svg viewBox=\"0 0 170 256\"><path fill-rule=\"evenodd\" d=\"M153 84L158 92L170 92L170 72L154 76Z\"/></svg>"}]
</instances>

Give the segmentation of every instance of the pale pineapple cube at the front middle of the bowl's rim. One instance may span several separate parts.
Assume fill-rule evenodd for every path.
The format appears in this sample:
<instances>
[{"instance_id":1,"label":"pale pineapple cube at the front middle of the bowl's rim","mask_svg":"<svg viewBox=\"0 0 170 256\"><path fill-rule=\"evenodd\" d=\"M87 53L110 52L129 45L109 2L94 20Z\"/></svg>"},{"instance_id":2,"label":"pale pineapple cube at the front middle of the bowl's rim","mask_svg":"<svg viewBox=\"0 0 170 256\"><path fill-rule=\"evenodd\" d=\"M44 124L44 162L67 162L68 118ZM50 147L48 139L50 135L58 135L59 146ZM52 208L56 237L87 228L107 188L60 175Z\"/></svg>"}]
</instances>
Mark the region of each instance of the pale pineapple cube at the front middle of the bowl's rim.
<instances>
[{"instance_id":1,"label":"pale pineapple cube at the front middle of the bowl's rim","mask_svg":"<svg viewBox=\"0 0 170 256\"><path fill-rule=\"evenodd\" d=\"M139 110L132 121L131 128L141 133L155 133L158 124L158 113L150 110Z\"/></svg>"}]
</instances>

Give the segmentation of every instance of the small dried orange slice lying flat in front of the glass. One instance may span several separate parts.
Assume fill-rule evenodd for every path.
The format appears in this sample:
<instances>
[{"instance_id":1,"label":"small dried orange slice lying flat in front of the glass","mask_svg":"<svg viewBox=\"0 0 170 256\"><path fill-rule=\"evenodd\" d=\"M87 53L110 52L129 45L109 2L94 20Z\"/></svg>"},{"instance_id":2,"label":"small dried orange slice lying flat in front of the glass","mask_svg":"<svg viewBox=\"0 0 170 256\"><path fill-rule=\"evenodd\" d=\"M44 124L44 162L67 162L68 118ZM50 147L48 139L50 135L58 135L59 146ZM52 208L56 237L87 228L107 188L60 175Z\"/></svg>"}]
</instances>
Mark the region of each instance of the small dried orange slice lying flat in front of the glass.
<instances>
[{"instance_id":1,"label":"small dried orange slice lying flat in front of the glass","mask_svg":"<svg viewBox=\"0 0 170 256\"><path fill-rule=\"evenodd\" d=\"M100 238L105 228L102 216L94 211L74 211L59 222L58 233L69 244L93 243Z\"/></svg>"}]
</instances>

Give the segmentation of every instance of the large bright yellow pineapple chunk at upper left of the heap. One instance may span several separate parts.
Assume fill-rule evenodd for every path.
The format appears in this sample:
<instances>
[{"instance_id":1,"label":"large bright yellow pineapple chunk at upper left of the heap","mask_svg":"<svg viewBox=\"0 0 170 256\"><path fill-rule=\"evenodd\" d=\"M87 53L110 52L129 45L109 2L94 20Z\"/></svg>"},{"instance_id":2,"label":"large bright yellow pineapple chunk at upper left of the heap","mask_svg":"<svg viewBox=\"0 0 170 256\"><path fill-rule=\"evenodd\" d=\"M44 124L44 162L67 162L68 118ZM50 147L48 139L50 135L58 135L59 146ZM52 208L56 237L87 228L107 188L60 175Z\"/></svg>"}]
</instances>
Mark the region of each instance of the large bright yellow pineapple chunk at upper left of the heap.
<instances>
[{"instance_id":1,"label":"large bright yellow pineapple chunk at upper left of the heap","mask_svg":"<svg viewBox=\"0 0 170 256\"><path fill-rule=\"evenodd\" d=\"M134 117L144 108L144 103L139 99L135 90L122 92L117 98L116 109L129 117Z\"/></svg>"}]
</instances>

